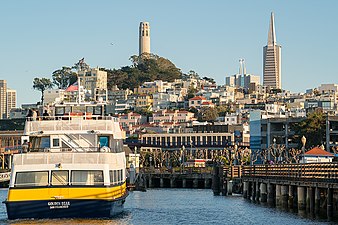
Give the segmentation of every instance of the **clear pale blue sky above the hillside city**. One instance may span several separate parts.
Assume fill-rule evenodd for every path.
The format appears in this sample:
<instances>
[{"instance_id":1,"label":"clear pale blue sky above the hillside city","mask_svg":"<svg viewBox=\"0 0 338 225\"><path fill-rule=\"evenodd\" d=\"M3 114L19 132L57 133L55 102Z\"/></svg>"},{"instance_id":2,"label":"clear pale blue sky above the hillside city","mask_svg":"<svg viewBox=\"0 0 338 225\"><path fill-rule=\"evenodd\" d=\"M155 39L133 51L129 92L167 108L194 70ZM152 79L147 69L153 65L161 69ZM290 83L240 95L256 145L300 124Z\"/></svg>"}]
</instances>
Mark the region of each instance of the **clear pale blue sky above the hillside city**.
<instances>
[{"instance_id":1,"label":"clear pale blue sky above the hillside city","mask_svg":"<svg viewBox=\"0 0 338 225\"><path fill-rule=\"evenodd\" d=\"M245 59L263 81L270 14L282 46L282 88L305 92L338 83L336 0L11 0L0 2L0 79L17 90L17 106L36 103L35 77L85 58L91 67L129 66L138 28L150 23L151 52L184 73L224 84Z\"/></svg>"}]
</instances>

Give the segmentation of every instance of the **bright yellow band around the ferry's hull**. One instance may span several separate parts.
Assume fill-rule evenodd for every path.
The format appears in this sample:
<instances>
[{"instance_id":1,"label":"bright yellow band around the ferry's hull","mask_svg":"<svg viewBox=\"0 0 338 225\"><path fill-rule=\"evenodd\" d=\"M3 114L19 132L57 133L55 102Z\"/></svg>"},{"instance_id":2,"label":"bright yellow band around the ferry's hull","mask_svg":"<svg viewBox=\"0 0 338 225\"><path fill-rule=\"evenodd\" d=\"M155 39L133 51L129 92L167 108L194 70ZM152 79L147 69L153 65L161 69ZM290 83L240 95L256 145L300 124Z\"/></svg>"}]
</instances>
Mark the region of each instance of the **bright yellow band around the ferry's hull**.
<instances>
[{"instance_id":1,"label":"bright yellow band around the ferry's hull","mask_svg":"<svg viewBox=\"0 0 338 225\"><path fill-rule=\"evenodd\" d=\"M8 202L55 199L114 200L126 194L126 183L114 187L10 188Z\"/></svg>"}]
</instances>

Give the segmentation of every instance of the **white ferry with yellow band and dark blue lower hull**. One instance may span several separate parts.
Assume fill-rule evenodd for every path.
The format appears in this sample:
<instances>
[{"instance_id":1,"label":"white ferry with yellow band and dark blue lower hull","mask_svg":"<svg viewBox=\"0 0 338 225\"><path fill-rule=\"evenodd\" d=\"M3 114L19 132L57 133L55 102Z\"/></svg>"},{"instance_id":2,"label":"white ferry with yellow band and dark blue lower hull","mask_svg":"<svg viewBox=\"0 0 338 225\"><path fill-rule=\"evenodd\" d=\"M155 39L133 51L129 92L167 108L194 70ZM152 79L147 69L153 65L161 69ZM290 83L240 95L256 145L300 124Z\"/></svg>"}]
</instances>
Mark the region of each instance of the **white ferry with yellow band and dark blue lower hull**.
<instances>
[{"instance_id":1,"label":"white ferry with yellow band and dark blue lower hull","mask_svg":"<svg viewBox=\"0 0 338 225\"><path fill-rule=\"evenodd\" d=\"M52 116L27 119L29 148L13 157L8 219L101 218L123 211L123 135L104 110L104 104L62 104Z\"/></svg>"}]
</instances>

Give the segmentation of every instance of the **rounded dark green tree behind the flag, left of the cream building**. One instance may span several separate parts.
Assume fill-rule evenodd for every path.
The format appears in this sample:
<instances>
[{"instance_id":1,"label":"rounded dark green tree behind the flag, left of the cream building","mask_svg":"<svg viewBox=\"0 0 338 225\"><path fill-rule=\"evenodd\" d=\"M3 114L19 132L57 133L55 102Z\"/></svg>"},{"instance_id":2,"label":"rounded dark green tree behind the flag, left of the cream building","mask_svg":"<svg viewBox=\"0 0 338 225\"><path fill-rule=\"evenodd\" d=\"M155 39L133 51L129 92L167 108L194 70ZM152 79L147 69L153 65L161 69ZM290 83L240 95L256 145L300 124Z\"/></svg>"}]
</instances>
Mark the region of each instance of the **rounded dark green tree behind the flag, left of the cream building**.
<instances>
[{"instance_id":1,"label":"rounded dark green tree behind the flag, left of the cream building","mask_svg":"<svg viewBox=\"0 0 338 225\"><path fill-rule=\"evenodd\" d=\"M53 84L59 89L66 89L69 85L77 80L77 75L70 67L63 66L59 70L55 70L52 74Z\"/></svg>"}]
</instances>

